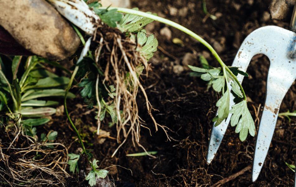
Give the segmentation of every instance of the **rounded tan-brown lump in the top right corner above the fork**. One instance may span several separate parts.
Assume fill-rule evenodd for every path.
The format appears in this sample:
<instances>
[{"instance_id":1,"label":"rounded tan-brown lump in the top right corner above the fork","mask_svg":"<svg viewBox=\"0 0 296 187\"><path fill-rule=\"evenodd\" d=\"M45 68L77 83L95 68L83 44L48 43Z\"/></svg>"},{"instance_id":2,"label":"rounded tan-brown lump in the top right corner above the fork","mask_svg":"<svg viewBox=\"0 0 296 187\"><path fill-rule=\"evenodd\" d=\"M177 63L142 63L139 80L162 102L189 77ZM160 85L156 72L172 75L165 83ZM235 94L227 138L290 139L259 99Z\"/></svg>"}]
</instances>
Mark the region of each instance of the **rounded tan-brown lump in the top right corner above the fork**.
<instances>
[{"instance_id":1,"label":"rounded tan-brown lump in the top right corner above the fork","mask_svg":"<svg viewBox=\"0 0 296 187\"><path fill-rule=\"evenodd\" d=\"M290 21L293 2L295 3L295 0L272 0L269 7L271 18L279 21Z\"/></svg>"}]
</instances>

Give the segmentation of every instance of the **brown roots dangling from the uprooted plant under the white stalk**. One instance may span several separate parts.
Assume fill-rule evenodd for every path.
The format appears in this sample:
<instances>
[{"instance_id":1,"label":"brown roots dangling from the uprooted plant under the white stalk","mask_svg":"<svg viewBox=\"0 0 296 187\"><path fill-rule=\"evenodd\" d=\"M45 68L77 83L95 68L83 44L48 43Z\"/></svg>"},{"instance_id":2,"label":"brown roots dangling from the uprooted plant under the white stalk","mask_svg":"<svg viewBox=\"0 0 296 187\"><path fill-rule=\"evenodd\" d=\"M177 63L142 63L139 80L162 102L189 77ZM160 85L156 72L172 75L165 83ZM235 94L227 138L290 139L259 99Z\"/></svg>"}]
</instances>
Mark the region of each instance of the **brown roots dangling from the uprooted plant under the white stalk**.
<instances>
[{"instance_id":1,"label":"brown roots dangling from the uprooted plant under the white stalk","mask_svg":"<svg viewBox=\"0 0 296 187\"><path fill-rule=\"evenodd\" d=\"M116 151L114 151L112 157L124 144L130 134L132 136L133 145L135 146L137 144L144 149L139 143L141 137L140 127L142 126L141 118L138 115L138 104L136 102L139 88L146 99L146 108L154 122L155 131L158 131L158 127L162 128L169 139L167 127L155 121L151 112L153 108L148 100L144 87L138 79L137 75L140 74L138 70L140 66L145 67L146 73L148 73L151 68L147 60L136 50L136 42L124 36L121 31L104 25L98 27L93 40L98 43L98 48L95 50L95 57L97 65L104 71L103 84L114 85L116 88L116 96L114 100L109 100L109 102L114 101L115 104L118 118L116 124L117 142L121 144ZM105 88L107 89L107 86L105 86ZM99 111L101 110L100 105L98 109ZM98 120L98 128L99 127L100 122ZM122 135L123 140L121 139ZM146 150L144 149L144 151Z\"/></svg>"}]
</instances>

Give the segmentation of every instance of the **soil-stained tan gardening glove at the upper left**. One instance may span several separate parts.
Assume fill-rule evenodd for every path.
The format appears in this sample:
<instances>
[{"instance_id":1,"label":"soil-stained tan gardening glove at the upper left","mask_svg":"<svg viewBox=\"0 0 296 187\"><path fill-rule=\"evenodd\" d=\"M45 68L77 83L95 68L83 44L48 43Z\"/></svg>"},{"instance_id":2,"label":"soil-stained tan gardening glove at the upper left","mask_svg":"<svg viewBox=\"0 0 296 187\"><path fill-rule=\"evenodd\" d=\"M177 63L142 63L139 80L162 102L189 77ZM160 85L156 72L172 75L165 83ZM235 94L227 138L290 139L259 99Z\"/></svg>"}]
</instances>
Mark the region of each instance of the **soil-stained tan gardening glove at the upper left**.
<instances>
[{"instance_id":1,"label":"soil-stained tan gardening glove at the upper left","mask_svg":"<svg viewBox=\"0 0 296 187\"><path fill-rule=\"evenodd\" d=\"M63 60L80 44L74 29L45 0L0 0L0 25L3 54Z\"/></svg>"}]
</instances>

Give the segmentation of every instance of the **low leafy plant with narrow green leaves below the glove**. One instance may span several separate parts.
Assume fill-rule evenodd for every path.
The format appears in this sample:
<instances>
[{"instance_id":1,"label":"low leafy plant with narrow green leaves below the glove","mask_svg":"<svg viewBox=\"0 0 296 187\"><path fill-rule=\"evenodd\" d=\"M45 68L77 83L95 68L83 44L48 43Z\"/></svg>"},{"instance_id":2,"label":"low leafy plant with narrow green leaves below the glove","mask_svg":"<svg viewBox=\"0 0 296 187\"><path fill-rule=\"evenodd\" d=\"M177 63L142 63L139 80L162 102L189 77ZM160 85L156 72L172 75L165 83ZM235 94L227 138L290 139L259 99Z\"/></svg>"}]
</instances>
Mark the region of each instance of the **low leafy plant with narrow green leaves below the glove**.
<instances>
[{"instance_id":1,"label":"low leafy plant with narrow green leaves below the glove","mask_svg":"<svg viewBox=\"0 0 296 187\"><path fill-rule=\"evenodd\" d=\"M6 128L16 123L22 134L35 137L36 126L49 122L48 117L56 113L53 107L59 104L46 98L63 98L69 83L68 77L58 76L46 66L69 71L37 56L14 56L12 60L3 56L3 59L5 62L0 56L0 112L9 118L2 118L2 123L10 124ZM74 97L73 93L68 94L68 98Z\"/></svg>"}]
</instances>

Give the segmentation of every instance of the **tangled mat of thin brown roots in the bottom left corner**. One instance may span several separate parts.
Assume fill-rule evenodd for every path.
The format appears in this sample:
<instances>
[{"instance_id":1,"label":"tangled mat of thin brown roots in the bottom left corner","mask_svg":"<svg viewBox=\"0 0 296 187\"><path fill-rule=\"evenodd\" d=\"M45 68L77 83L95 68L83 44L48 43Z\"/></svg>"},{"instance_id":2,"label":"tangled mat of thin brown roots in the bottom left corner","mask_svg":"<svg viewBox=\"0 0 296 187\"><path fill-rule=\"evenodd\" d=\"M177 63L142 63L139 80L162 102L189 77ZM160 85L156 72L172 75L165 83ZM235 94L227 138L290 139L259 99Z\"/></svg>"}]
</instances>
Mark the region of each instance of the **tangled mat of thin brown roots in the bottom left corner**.
<instances>
[{"instance_id":1,"label":"tangled mat of thin brown roots in the bottom left corner","mask_svg":"<svg viewBox=\"0 0 296 187\"><path fill-rule=\"evenodd\" d=\"M64 186L69 176L67 148L61 143L36 142L18 131L18 127L15 132L0 129L1 186Z\"/></svg>"}]
</instances>

